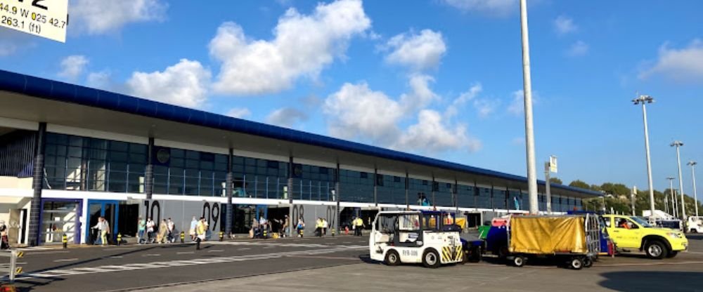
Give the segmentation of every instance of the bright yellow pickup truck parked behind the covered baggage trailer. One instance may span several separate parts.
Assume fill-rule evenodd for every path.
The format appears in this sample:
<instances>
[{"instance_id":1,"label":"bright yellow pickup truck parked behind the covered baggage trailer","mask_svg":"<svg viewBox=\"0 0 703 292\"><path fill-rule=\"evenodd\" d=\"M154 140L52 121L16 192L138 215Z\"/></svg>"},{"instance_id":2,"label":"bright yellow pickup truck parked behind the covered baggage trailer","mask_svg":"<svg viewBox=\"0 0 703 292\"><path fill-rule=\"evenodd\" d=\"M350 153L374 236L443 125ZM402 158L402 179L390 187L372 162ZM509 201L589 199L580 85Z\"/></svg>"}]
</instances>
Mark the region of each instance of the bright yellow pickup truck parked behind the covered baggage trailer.
<instances>
[{"instance_id":1,"label":"bright yellow pickup truck parked behind the covered baggage trailer","mask_svg":"<svg viewBox=\"0 0 703 292\"><path fill-rule=\"evenodd\" d=\"M602 215L608 235L621 251L644 251L648 258L673 258L688 248L683 232L652 227L642 218Z\"/></svg>"}]
</instances>

